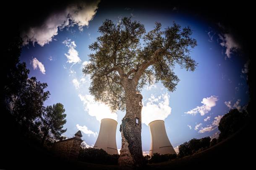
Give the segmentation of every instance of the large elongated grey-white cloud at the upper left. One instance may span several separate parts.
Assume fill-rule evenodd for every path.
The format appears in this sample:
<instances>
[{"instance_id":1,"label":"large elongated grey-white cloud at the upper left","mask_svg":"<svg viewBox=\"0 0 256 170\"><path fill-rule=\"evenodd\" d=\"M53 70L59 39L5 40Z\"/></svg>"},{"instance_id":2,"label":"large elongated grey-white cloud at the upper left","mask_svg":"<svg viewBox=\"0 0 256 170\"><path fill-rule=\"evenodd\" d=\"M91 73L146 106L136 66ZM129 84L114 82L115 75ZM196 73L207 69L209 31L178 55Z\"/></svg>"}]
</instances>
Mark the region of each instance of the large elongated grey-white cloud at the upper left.
<instances>
[{"instance_id":1,"label":"large elongated grey-white cloud at the upper left","mask_svg":"<svg viewBox=\"0 0 256 170\"><path fill-rule=\"evenodd\" d=\"M30 41L34 44L37 42L40 46L52 41L53 37L58 34L58 29L63 30L65 27L78 25L79 30L89 25L98 8L99 0L92 3L79 2L68 5L67 8L58 13L51 13L38 26L30 27L21 33L24 45Z\"/></svg>"}]
</instances>

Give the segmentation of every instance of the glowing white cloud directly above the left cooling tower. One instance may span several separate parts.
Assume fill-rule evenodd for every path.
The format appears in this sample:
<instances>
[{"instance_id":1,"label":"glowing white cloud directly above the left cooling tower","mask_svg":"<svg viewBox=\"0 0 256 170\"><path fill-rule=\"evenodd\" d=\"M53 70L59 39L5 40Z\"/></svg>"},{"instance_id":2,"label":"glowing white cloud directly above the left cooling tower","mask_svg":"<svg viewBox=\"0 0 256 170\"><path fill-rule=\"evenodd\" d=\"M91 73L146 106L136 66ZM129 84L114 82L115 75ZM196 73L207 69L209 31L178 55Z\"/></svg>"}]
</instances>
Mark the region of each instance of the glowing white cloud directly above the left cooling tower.
<instances>
[{"instance_id":1,"label":"glowing white cloud directly above the left cooling tower","mask_svg":"<svg viewBox=\"0 0 256 170\"><path fill-rule=\"evenodd\" d=\"M95 116L99 122L104 118L117 120L118 115L116 113L111 112L110 108L106 104L94 101L93 96L90 94L79 94L78 96L81 101L83 101L84 109L88 112L88 114L90 116Z\"/></svg>"}]
</instances>

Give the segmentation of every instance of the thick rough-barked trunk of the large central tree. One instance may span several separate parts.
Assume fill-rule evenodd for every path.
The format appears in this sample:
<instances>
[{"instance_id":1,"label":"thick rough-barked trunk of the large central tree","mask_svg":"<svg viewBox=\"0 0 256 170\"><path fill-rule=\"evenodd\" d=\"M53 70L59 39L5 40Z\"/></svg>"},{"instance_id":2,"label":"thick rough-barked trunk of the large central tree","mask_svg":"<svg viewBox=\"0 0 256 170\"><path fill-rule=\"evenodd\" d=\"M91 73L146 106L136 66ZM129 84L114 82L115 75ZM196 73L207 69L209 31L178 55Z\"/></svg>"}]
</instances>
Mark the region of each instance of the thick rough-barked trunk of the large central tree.
<instances>
[{"instance_id":1,"label":"thick rough-barked trunk of the large central tree","mask_svg":"<svg viewBox=\"0 0 256 170\"><path fill-rule=\"evenodd\" d=\"M122 167L141 167L143 155L141 147L141 109L142 95L136 92L136 86L131 79L124 84L126 114L122 119L120 132L122 148L118 165ZM136 123L136 119L138 122Z\"/></svg>"}]
</instances>

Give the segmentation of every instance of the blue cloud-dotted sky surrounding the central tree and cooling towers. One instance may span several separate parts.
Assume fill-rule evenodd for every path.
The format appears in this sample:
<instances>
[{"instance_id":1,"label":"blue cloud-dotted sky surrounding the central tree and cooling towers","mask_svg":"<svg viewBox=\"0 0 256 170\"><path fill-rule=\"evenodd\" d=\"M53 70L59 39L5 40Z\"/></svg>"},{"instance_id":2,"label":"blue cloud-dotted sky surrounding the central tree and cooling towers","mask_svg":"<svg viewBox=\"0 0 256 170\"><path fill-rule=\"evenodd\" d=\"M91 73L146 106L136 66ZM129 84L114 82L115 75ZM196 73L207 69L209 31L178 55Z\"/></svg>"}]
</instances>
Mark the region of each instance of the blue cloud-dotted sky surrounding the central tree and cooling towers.
<instances>
[{"instance_id":1,"label":"blue cloud-dotted sky surrounding the central tree and cooling towers","mask_svg":"<svg viewBox=\"0 0 256 170\"><path fill-rule=\"evenodd\" d=\"M235 36L225 30L222 23L202 20L178 8L169 10L141 10L129 6L107 8L99 1L67 5L52 11L39 24L24 29L21 36L24 46L21 62L26 62L29 77L36 76L48 84L50 97L44 105L62 103L67 114L67 131L72 137L78 130L87 146L93 146L99 134L100 121L111 118L118 121L116 140L121 148L119 126L125 112L112 113L107 105L94 101L89 94L90 78L82 74L92 53L88 46L100 36L97 32L105 19L116 24L130 17L145 25L146 31L154 28L156 21L162 29L173 21L182 27L190 26L198 46L191 57L198 63L189 72L176 66L174 71L180 81L173 92L161 83L148 85L142 91L142 149L150 150L148 124L157 119L165 121L167 136L177 151L183 142L206 136L218 137L218 124L232 108L241 109L248 103L246 73L248 59Z\"/></svg>"}]
</instances>

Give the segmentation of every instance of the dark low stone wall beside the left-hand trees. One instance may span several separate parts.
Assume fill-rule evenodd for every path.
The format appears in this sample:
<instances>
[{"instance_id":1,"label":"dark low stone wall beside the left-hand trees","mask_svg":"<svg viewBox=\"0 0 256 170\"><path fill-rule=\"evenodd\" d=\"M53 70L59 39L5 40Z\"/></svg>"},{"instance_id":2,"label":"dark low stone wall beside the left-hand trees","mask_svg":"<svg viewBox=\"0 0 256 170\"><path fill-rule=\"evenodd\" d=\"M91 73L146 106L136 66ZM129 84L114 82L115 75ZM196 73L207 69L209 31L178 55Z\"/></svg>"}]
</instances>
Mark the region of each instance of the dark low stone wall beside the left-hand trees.
<instances>
[{"instance_id":1,"label":"dark low stone wall beside the left-hand trees","mask_svg":"<svg viewBox=\"0 0 256 170\"><path fill-rule=\"evenodd\" d=\"M72 137L67 140L56 142L53 145L52 150L59 157L66 158L68 160L77 160L81 142L83 141L78 137Z\"/></svg>"}]
</instances>

